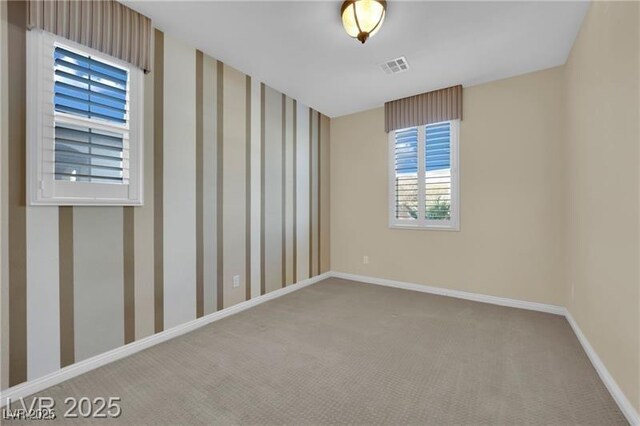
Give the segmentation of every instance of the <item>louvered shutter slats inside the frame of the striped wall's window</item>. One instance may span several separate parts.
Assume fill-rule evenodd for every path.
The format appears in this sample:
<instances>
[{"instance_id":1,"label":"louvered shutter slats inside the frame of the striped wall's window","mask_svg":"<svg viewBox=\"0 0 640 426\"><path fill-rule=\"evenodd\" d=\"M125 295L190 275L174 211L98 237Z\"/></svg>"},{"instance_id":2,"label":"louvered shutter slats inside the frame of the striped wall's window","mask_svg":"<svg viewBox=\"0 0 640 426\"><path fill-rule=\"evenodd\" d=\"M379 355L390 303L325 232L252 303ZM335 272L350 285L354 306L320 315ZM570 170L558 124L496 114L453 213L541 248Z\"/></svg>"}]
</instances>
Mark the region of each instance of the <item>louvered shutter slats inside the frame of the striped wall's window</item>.
<instances>
[{"instance_id":1,"label":"louvered shutter slats inside the frame of the striped wall's window","mask_svg":"<svg viewBox=\"0 0 640 426\"><path fill-rule=\"evenodd\" d=\"M129 71L61 46L54 58L56 180L128 183Z\"/></svg>"}]
</instances>

